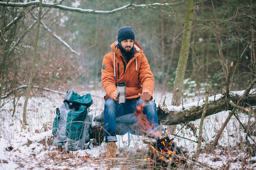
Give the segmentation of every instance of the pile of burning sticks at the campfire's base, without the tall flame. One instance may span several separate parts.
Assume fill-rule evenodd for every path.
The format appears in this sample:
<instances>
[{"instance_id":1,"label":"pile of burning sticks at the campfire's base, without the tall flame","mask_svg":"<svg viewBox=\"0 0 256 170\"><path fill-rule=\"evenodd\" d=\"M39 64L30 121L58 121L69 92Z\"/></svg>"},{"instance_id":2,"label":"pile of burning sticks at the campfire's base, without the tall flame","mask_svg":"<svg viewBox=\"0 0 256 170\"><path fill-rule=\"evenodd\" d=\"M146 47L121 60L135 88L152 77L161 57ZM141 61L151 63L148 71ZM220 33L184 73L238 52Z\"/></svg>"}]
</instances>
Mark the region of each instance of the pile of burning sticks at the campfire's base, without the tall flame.
<instances>
[{"instance_id":1,"label":"pile of burning sticks at the campfire's base, without the tall flame","mask_svg":"<svg viewBox=\"0 0 256 170\"><path fill-rule=\"evenodd\" d=\"M151 139L143 140L149 148L148 158L144 160L160 164L163 167L178 167L187 163L184 152L176 146L174 139L170 139L167 135L166 137L156 138L144 130L142 130L142 133L155 140L155 142Z\"/></svg>"}]
</instances>

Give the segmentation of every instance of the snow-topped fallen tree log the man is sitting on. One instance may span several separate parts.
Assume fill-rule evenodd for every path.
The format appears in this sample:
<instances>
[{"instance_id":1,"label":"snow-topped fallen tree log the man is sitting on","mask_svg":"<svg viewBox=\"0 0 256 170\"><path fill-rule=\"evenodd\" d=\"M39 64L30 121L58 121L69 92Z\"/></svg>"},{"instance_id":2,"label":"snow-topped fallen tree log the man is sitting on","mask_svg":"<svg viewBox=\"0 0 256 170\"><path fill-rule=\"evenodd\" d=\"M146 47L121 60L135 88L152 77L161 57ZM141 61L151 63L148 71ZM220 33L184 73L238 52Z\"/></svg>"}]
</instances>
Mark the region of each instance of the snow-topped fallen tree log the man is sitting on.
<instances>
[{"instance_id":1,"label":"snow-topped fallen tree log the man is sitting on","mask_svg":"<svg viewBox=\"0 0 256 170\"><path fill-rule=\"evenodd\" d=\"M255 91L255 90L254 90ZM242 94L242 92L241 92ZM222 111L228 111L232 110L233 106L229 104L229 101L233 101L233 103L236 103L236 101L239 99L239 95L231 95L229 97L217 95L217 96L211 96L209 97L209 103L208 108L205 116L210 116L212 114L216 114ZM170 102L171 103L171 102ZM169 111L167 107L161 107L161 105L158 105L157 113L158 113L158 120L162 125L177 125L177 124L184 124L185 122L195 121L199 118L201 118L201 115L203 113L204 108L204 100L198 101L195 104L192 105L189 104L189 106L184 105L183 109L180 109L177 107L176 110L180 111ZM250 107L256 105L256 94L254 92L253 95L248 95L246 99L243 100L242 103L243 107ZM175 108L175 107L172 107ZM104 137L104 125L102 122L103 119L97 120L99 124L92 126L92 135L91 138L96 139L97 142L102 142ZM117 134L122 135L125 133L125 129L127 129L127 132L133 129L131 127L133 124L123 124L117 122Z\"/></svg>"}]
</instances>

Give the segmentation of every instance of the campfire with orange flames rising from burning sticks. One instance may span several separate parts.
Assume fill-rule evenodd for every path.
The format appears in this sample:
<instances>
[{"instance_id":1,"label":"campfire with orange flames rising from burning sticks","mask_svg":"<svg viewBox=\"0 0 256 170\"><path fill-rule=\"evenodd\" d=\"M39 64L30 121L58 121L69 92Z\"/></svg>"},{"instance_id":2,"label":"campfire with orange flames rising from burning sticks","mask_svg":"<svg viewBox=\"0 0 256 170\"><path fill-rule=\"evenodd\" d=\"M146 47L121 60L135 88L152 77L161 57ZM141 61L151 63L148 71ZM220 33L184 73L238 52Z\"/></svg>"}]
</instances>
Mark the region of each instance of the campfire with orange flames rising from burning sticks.
<instances>
[{"instance_id":1,"label":"campfire with orange flames rising from burning sticks","mask_svg":"<svg viewBox=\"0 0 256 170\"><path fill-rule=\"evenodd\" d=\"M138 105L134 114L138 117L137 128L148 139L143 140L148 144L147 158L144 160L159 164L163 167L179 167L186 164L184 152L176 146L174 139L167 135L162 137L158 130L152 130L152 125L143 114L143 105ZM141 150L137 150L140 152Z\"/></svg>"}]
</instances>

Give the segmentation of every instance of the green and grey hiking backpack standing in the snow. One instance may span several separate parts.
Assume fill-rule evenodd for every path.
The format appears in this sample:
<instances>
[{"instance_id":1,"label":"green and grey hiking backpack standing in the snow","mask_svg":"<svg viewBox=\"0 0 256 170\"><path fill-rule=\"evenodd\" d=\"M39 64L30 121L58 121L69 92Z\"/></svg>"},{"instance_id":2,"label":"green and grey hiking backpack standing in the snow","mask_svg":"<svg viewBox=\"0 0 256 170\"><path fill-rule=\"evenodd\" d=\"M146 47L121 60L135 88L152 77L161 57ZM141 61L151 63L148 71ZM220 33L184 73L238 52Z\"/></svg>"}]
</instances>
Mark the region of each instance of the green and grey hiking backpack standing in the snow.
<instances>
[{"instance_id":1,"label":"green and grey hiking backpack standing in the snow","mask_svg":"<svg viewBox=\"0 0 256 170\"><path fill-rule=\"evenodd\" d=\"M93 115L88 114L93 104L90 94L80 96L68 90L63 104L56 108L53 121L53 145L65 148L66 151L84 150L90 141L90 128Z\"/></svg>"}]
</instances>

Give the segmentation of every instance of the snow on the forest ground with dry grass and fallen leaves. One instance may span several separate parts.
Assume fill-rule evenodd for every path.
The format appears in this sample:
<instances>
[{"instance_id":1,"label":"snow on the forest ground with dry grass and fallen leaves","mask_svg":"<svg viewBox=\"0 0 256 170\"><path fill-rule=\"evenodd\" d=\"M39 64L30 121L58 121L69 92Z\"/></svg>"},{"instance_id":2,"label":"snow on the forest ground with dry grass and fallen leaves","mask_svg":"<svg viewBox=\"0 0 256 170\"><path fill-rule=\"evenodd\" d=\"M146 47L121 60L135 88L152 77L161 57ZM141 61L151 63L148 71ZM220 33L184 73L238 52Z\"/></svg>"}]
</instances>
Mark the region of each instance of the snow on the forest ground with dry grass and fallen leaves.
<instances>
[{"instance_id":1,"label":"snow on the forest ground with dry grass and fallen leaves","mask_svg":"<svg viewBox=\"0 0 256 170\"><path fill-rule=\"evenodd\" d=\"M77 93L80 95L90 93L92 95L94 103L90 107L89 114L96 116L103 111L104 100L102 96L105 94L103 90ZM112 164L104 159L105 143L97 147L90 145L90 149L71 151L69 154L58 151L56 147L48 143L52 138L51 129L53 119L56 116L55 110L62 104L63 97L63 95L50 92L46 92L45 96L42 97L31 97L28 100L28 125L26 126L22 124L24 98L21 97L16 103L14 117L11 116L14 110L13 100L5 100L7 103L1 108L0 114L0 169L129 169L132 163L128 161L122 160L122 163ZM171 94L166 94L166 97L166 101L171 101ZM217 97L220 97L220 95L216 96L216 100ZM160 93L154 93L157 105L158 103L162 104L163 98ZM188 105L186 107L195 104L192 102L194 100L187 100ZM203 103L196 101L197 104ZM168 109L177 111L180 108L168 107ZM214 139L214 135L216 135L217 130L220 129L227 116L228 112L220 112L205 118L203 127L205 141L209 143ZM247 115L240 114L240 120L246 123ZM198 128L200 120L193 123ZM179 137L172 135L170 137L174 138L177 146L187 148L191 156L195 154L197 143L192 142L196 141L192 131L183 128L182 125L177 125L176 134ZM243 129L240 128L239 123L233 116L221 136L220 148L201 154L199 161L217 169L221 169L221 167L223 168L224 165L228 164L230 169L256 168L256 157L249 157L246 148L243 147L245 137ZM119 158L127 158L126 156L135 154L137 148L147 149L142 142L142 138L130 134L118 136L117 154ZM254 141L256 141L255 137ZM142 159L139 161L143 162Z\"/></svg>"}]
</instances>

